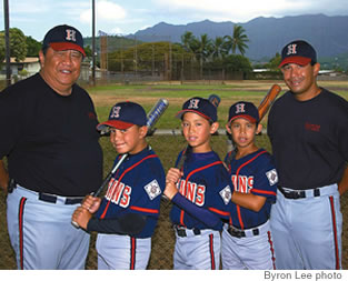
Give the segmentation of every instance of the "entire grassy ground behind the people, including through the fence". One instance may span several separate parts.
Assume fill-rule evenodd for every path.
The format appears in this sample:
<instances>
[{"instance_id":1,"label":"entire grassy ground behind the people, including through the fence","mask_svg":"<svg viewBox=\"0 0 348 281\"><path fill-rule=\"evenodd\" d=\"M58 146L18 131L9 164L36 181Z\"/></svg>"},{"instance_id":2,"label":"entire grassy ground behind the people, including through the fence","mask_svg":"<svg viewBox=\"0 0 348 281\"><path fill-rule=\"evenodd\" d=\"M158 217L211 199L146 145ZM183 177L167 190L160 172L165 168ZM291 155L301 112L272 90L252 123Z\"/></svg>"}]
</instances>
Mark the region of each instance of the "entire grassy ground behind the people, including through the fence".
<instances>
[{"instance_id":1,"label":"entire grassy ground behind the people, including through the fence","mask_svg":"<svg viewBox=\"0 0 348 281\"><path fill-rule=\"evenodd\" d=\"M282 88L281 94L287 87L280 82ZM146 111L149 111L159 98L166 98L169 101L169 108L158 121L158 129L179 129L180 121L175 118L177 111L181 109L182 103L195 96L208 98L209 94L216 93L221 97L221 103L218 110L220 128L225 127L228 117L229 107L239 100L252 101L259 104L264 96L270 89L275 81L232 81L221 83L186 83L179 82L137 84L137 86L100 86L88 88L91 98L96 104L99 121L108 118L110 108L119 101L136 101L142 104ZM332 90L348 100L348 82L319 82L320 86ZM267 124L267 116L262 120ZM173 165L177 153L185 147L185 140L181 136L152 136L148 138L149 143L160 157L163 167L168 170ZM100 143L105 154L105 173L111 169L116 152L109 143L108 138L101 138ZM266 134L257 137L257 144L271 151L269 140ZM212 138L212 148L221 158L227 152L227 137L217 136ZM172 250L175 237L168 218L171 204L163 201L161 204L161 215L152 239L152 253L149 269L171 269ZM342 264L348 269L348 195L341 198L341 209L344 213L344 234L342 234ZM9 243L6 227L6 198L3 192L0 193L0 269L14 269L13 252ZM345 220L346 219L346 220ZM92 234L91 248L87 261L87 269L97 268L97 255L95 250L96 234Z\"/></svg>"}]
</instances>

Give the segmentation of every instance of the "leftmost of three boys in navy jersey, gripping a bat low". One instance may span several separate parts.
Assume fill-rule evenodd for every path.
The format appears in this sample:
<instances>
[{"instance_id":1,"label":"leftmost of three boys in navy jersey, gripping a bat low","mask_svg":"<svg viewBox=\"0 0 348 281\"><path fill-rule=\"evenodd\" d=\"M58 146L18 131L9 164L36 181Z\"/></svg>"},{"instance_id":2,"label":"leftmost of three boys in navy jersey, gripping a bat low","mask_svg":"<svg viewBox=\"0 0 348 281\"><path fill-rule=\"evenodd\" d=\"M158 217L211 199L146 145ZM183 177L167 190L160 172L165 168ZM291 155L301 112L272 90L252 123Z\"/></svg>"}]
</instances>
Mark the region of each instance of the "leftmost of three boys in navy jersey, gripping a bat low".
<instances>
[{"instance_id":1,"label":"leftmost of three boys in navy jersey, gripping a bat low","mask_svg":"<svg viewBox=\"0 0 348 281\"><path fill-rule=\"evenodd\" d=\"M120 154L115 164L128 154L112 174L105 198L88 195L72 215L82 229L98 232L98 269L145 270L149 261L166 175L146 141L146 124L141 106L119 102L109 120L97 127L110 131L110 142Z\"/></svg>"}]
</instances>

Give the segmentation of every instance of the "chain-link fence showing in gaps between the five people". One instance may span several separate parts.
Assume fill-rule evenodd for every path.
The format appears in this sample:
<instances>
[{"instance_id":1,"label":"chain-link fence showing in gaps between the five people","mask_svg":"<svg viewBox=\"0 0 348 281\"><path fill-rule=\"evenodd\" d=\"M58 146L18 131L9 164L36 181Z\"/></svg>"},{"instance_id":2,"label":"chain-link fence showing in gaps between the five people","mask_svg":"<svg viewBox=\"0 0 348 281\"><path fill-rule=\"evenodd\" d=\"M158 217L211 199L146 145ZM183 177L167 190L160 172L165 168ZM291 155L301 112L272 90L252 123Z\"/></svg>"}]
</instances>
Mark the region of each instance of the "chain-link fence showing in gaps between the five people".
<instances>
[{"instance_id":1,"label":"chain-link fence showing in gaps between the five people","mask_svg":"<svg viewBox=\"0 0 348 281\"><path fill-rule=\"evenodd\" d=\"M165 137L157 137L165 138ZM166 137L162 139L161 147L156 147L155 151L160 157L165 170L171 165L171 160L177 152L176 145L168 145L169 143L173 144L173 139L178 141L179 137ZM171 142L169 142L171 141ZM179 140L180 141L180 140ZM223 157L226 153L226 137L219 136L212 138L212 148L220 157ZM270 144L268 137L266 134L258 136L256 138L258 147L262 147L266 150L270 151ZM179 143L179 147L182 147L182 143ZM152 144L151 144L152 145ZM176 151L173 153L173 151ZM171 160L169 160L171 159ZM152 248L150 261L148 264L149 270L170 270L172 269L172 255L175 248L175 232L169 219L169 212L171 210L171 202L162 200L160 217L158 220L158 225L156 228L155 234L152 235ZM348 192L341 197L341 212L344 218L347 218L348 214ZM16 269L16 261L13 250L10 245L10 240L7 233L7 223L6 223L6 197L3 192L0 192L0 270L13 270ZM342 231L342 268L348 269L348 224L347 220L344 219L344 231ZM96 270L97 265L97 251L96 251L96 238L97 233L91 234L90 250L87 259L86 268L88 270Z\"/></svg>"}]
</instances>

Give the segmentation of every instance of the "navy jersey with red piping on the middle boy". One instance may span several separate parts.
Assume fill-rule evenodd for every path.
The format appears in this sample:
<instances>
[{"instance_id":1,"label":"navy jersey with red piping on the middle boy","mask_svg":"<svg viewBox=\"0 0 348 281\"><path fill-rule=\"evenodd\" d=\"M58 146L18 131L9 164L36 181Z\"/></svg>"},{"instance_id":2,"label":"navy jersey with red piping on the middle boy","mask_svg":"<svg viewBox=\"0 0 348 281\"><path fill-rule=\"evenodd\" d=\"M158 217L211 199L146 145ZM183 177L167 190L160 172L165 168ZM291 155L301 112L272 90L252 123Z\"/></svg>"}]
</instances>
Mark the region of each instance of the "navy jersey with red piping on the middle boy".
<instances>
[{"instance_id":1,"label":"navy jersey with red piping on the middle boy","mask_svg":"<svg viewBox=\"0 0 348 281\"><path fill-rule=\"evenodd\" d=\"M182 151L177 162L180 161ZM188 153L183 167L183 175L177 183L179 193L195 205L215 213L221 219L229 219L229 204L231 188L228 171L218 154L213 151L207 153ZM211 229L203 221L187 213L173 204L170 219L175 224L188 229ZM222 222L212 229L221 230Z\"/></svg>"}]
</instances>

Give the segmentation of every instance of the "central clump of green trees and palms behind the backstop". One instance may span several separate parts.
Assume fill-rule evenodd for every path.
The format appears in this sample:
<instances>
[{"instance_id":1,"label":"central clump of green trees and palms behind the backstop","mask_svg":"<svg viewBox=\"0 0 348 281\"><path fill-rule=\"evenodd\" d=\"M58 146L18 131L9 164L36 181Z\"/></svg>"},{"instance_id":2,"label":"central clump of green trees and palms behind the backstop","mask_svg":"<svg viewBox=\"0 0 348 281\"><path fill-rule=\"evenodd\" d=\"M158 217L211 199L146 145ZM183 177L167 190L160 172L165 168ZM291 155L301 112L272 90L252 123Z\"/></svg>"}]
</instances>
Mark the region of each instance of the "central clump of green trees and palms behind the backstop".
<instances>
[{"instance_id":1,"label":"central clump of green trees and palms behind the backstop","mask_svg":"<svg viewBox=\"0 0 348 281\"><path fill-rule=\"evenodd\" d=\"M147 70L168 73L169 79L192 77L192 73L196 73L197 79L202 79L205 73L217 71L250 73L252 67L245 57L248 42L245 29L238 24L233 27L231 34L215 39L206 33L195 37L187 31L181 36L180 43L136 42L126 49L119 47L115 51L108 51L107 63L101 64L107 64L107 69L115 72Z\"/></svg>"}]
</instances>

